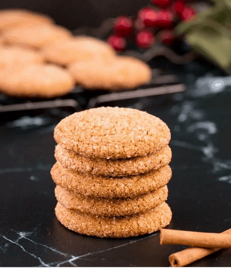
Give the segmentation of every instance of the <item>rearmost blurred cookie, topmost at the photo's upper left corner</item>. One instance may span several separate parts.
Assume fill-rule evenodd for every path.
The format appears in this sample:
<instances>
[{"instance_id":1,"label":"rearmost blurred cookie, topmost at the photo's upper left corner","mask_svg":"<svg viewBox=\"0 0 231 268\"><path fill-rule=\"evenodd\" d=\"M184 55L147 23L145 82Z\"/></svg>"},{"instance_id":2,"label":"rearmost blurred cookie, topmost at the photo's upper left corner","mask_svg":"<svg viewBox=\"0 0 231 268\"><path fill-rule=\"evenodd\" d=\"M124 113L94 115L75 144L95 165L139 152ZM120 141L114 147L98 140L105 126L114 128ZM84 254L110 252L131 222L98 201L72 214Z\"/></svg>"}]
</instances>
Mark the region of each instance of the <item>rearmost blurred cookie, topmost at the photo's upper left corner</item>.
<instances>
[{"instance_id":1,"label":"rearmost blurred cookie, topmost at the photo's upper left corner","mask_svg":"<svg viewBox=\"0 0 231 268\"><path fill-rule=\"evenodd\" d=\"M52 24L54 20L47 15L25 9L0 10L0 30L25 24Z\"/></svg>"}]
</instances>

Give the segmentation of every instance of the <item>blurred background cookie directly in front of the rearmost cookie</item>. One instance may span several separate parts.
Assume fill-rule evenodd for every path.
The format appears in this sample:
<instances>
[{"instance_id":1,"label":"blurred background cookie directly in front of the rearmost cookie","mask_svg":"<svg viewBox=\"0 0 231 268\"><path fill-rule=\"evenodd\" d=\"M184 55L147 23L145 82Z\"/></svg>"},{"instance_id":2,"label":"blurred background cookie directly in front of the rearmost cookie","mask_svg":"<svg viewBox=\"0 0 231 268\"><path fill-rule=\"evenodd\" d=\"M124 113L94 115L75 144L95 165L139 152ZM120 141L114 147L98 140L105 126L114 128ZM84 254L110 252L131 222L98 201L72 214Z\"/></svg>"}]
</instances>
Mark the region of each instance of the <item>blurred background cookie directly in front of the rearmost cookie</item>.
<instances>
[{"instance_id":1,"label":"blurred background cookie directly in front of the rearmost cookie","mask_svg":"<svg viewBox=\"0 0 231 268\"><path fill-rule=\"evenodd\" d=\"M25 24L4 31L3 38L12 44L23 44L40 49L55 40L71 38L71 33L58 25Z\"/></svg>"}]
</instances>

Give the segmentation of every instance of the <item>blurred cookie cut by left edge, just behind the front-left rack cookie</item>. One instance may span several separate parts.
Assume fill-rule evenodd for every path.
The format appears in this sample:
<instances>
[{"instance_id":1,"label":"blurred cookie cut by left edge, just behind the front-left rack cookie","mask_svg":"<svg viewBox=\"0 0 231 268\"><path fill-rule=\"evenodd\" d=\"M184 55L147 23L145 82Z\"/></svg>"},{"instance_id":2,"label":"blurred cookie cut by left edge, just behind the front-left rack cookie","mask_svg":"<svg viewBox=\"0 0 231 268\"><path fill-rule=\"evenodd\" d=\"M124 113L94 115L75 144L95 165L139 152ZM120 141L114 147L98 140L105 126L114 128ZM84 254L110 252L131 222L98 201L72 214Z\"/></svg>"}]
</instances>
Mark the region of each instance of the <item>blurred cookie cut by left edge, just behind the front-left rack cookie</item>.
<instances>
[{"instance_id":1,"label":"blurred cookie cut by left edge, just behind the front-left rack cookie","mask_svg":"<svg viewBox=\"0 0 231 268\"><path fill-rule=\"evenodd\" d=\"M31 64L42 64L42 54L19 47L0 47L0 70L18 69Z\"/></svg>"}]
</instances>

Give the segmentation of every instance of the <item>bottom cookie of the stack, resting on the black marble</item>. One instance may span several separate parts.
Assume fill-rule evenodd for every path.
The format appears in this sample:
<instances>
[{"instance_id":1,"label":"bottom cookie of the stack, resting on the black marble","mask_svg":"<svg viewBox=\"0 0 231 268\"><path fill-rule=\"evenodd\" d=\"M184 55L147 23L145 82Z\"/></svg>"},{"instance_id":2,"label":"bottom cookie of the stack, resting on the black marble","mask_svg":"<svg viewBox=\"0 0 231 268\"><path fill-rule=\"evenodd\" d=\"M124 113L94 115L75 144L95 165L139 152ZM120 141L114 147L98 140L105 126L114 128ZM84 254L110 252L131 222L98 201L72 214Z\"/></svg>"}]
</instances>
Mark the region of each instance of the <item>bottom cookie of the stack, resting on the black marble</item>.
<instances>
[{"instance_id":1,"label":"bottom cookie of the stack, resting on the black marble","mask_svg":"<svg viewBox=\"0 0 231 268\"><path fill-rule=\"evenodd\" d=\"M141 214L124 217L99 217L66 209L59 202L55 208L58 220L68 229L99 237L123 238L156 232L172 218L167 203Z\"/></svg>"}]
</instances>

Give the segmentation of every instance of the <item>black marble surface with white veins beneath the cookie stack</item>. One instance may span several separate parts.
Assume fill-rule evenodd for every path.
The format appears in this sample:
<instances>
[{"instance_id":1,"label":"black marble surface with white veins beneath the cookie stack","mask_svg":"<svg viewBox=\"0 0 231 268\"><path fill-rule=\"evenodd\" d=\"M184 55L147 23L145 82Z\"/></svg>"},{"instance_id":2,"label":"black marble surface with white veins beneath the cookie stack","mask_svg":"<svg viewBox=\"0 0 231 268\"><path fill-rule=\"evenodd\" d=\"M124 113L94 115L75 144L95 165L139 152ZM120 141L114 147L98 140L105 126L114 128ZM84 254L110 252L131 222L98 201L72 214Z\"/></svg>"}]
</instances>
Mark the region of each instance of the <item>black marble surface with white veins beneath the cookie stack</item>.
<instances>
[{"instance_id":1,"label":"black marble surface with white veins beneath the cookie stack","mask_svg":"<svg viewBox=\"0 0 231 268\"><path fill-rule=\"evenodd\" d=\"M184 66L164 58L151 63L180 75L187 91L110 103L145 110L169 126L173 153L168 184L173 218L168 226L201 232L231 228L231 87L196 89L199 76L222 75L198 59ZM168 267L183 246L160 246L159 233L101 239L71 232L54 215L49 171L55 162L54 126L67 115L28 112L0 122L1 267ZM231 250L220 250L193 267L229 267Z\"/></svg>"}]
</instances>

